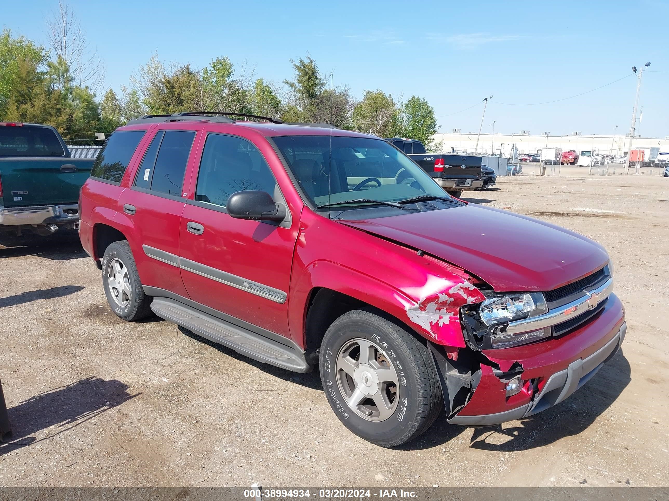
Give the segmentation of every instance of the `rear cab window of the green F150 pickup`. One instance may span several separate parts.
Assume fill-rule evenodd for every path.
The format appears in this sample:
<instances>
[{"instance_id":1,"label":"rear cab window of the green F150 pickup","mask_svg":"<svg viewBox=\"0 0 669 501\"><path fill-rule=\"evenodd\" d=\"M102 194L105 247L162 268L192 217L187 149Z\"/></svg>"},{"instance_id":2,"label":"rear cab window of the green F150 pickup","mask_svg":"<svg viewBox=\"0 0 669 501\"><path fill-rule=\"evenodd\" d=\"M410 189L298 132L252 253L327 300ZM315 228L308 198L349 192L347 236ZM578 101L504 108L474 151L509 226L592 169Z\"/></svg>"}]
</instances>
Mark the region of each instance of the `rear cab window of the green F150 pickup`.
<instances>
[{"instance_id":1,"label":"rear cab window of the green F150 pickup","mask_svg":"<svg viewBox=\"0 0 669 501\"><path fill-rule=\"evenodd\" d=\"M64 156L56 132L48 127L0 126L0 156Z\"/></svg>"}]
</instances>

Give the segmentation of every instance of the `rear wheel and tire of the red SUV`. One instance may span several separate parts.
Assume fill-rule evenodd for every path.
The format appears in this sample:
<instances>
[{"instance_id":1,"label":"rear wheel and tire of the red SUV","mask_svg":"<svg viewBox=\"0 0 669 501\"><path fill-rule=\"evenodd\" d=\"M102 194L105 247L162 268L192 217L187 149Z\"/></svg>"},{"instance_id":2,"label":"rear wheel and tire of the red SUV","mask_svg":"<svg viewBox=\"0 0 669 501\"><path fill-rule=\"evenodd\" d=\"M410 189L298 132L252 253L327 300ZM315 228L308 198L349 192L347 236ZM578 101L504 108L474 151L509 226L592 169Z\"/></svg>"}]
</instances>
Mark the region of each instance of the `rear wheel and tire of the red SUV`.
<instances>
[{"instance_id":1,"label":"rear wheel and tire of the red SUV","mask_svg":"<svg viewBox=\"0 0 669 501\"><path fill-rule=\"evenodd\" d=\"M127 240L112 242L104 251L102 287L117 317L134 322L151 315L151 297L142 289Z\"/></svg>"}]
</instances>

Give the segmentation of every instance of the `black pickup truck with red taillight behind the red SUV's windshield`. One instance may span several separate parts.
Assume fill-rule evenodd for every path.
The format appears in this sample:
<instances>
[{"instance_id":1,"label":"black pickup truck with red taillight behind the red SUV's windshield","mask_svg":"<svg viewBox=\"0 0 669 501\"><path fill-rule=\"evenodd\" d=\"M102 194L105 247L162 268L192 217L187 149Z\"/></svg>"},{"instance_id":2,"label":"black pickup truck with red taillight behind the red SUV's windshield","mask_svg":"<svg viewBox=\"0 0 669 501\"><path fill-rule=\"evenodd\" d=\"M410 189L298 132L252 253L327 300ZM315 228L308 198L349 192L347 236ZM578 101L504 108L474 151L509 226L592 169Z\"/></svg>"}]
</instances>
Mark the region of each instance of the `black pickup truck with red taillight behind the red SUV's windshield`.
<instances>
[{"instance_id":1,"label":"black pickup truck with red taillight behind the red SUV's windshield","mask_svg":"<svg viewBox=\"0 0 669 501\"><path fill-rule=\"evenodd\" d=\"M425 153L423 143L415 139L386 138L386 141L405 152L453 196L483 186L480 156Z\"/></svg>"}]
</instances>

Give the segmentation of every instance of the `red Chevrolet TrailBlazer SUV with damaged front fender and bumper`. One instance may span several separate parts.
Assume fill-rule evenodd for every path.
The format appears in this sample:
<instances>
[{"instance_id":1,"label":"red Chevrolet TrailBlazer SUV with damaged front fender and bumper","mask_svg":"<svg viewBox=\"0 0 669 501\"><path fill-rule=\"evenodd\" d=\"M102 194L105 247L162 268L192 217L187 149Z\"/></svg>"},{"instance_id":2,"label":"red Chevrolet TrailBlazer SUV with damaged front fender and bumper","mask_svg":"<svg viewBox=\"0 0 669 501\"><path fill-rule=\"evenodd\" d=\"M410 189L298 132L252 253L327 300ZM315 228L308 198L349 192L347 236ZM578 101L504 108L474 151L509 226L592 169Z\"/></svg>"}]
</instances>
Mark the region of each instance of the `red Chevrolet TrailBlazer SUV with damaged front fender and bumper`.
<instances>
[{"instance_id":1,"label":"red Chevrolet TrailBlazer SUV with damaged front fender and bumper","mask_svg":"<svg viewBox=\"0 0 669 501\"><path fill-rule=\"evenodd\" d=\"M110 136L80 238L118 317L318 365L337 418L379 446L444 405L466 426L536 414L617 352L601 245L452 198L374 136L266 120L149 116Z\"/></svg>"}]
</instances>

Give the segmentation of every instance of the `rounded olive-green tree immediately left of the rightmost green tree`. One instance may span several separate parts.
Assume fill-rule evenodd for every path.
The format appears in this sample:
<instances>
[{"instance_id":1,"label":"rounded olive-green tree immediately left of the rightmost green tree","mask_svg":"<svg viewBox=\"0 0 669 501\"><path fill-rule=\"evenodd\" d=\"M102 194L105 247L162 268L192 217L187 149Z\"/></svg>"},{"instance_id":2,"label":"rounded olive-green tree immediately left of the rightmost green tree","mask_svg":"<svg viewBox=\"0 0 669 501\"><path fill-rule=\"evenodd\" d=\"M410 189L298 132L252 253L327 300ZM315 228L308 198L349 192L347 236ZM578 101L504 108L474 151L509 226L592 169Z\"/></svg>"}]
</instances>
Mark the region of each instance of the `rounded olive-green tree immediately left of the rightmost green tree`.
<instances>
[{"instance_id":1,"label":"rounded olive-green tree immediately left of the rightmost green tree","mask_svg":"<svg viewBox=\"0 0 669 501\"><path fill-rule=\"evenodd\" d=\"M363 100L354 108L351 120L355 130L387 138L394 132L397 114L392 96L386 96L381 89L366 90Z\"/></svg>"}]
</instances>

